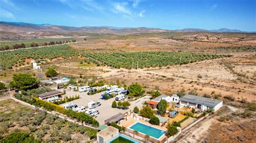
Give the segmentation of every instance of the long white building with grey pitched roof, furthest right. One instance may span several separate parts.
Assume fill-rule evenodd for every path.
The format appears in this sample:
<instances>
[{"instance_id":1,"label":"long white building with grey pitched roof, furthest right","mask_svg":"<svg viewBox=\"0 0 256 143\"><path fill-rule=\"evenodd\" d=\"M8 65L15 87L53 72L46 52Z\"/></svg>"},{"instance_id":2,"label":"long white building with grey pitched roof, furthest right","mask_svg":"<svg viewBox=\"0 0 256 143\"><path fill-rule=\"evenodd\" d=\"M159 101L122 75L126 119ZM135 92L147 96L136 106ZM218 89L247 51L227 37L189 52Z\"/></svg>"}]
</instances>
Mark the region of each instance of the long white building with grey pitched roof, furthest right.
<instances>
[{"instance_id":1,"label":"long white building with grey pitched roof, furthest right","mask_svg":"<svg viewBox=\"0 0 256 143\"><path fill-rule=\"evenodd\" d=\"M190 106L191 108L202 111L207 110L208 108L212 108L214 111L217 111L223 106L223 101L190 94L186 94L184 97L180 98L179 103L180 105Z\"/></svg>"}]
</instances>

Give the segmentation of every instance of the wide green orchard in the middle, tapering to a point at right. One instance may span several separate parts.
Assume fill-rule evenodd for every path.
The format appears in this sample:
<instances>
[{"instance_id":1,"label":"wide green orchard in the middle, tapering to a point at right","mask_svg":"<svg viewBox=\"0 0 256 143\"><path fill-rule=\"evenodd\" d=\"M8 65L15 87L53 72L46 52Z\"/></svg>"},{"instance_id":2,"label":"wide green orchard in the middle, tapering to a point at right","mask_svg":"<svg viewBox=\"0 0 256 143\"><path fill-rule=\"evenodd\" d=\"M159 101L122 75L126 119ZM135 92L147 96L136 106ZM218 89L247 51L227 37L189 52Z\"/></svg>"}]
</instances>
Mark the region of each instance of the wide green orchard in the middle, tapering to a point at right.
<instances>
[{"instance_id":1,"label":"wide green orchard in the middle, tapering to a point at right","mask_svg":"<svg viewBox=\"0 0 256 143\"><path fill-rule=\"evenodd\" d=\"M86 58L114 68L136 69L150 67L166 67L173 65L185 65L203 60L230 57L232 55L215 55L181 52L119 52L119 53L89 53L82 54Z\"/></svg>"}]
</instances>

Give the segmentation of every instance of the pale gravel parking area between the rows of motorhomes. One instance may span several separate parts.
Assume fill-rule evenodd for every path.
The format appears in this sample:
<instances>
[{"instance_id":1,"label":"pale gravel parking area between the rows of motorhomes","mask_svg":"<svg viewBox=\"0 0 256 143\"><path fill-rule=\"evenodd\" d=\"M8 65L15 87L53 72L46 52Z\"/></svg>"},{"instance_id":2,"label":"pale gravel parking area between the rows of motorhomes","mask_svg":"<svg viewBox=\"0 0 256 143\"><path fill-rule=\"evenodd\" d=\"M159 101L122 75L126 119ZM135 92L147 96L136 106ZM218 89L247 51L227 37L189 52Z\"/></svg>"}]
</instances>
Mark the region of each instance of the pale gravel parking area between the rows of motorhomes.
<instances>
[{"instance_id":1,"label":"pale gravel parking area between the rows of motorhomes","mask_svg":"<svg viewBox=\"0 0 256 143\"><path fill-rule=\"evenodd\" d=\"M104 91L105 92L105 91ZM137 99L136 101L132 101L131 106L129 109L122 110L122 109L117 109L117 108L111 108L112 102L114 101L114 98L108 99L108 100L103 100L99 99L100 95L104 94L104 92L100 92L95 95L87 95L87 92L78 92L78 91L66 91L65 96L72 96L72 95L79 95L80 99L76 99L74 101L68 102L68 103L75 103L78 106L85 106L87 107L87 104L91 101L99 101L102 105L98 106L96 109L99 111L99 114L96 117L96 120L99 121L100 125L104 124L104 121L117 113L125 113L130 110L133 110L135 106L138 106L138 108L143 107L143 102L144 101L149 101L150 96L144 96L142 98ZM64 103L64 104L68 104ZM61 104L63 106L64 104Z\"/></svg>"}]
</instances>

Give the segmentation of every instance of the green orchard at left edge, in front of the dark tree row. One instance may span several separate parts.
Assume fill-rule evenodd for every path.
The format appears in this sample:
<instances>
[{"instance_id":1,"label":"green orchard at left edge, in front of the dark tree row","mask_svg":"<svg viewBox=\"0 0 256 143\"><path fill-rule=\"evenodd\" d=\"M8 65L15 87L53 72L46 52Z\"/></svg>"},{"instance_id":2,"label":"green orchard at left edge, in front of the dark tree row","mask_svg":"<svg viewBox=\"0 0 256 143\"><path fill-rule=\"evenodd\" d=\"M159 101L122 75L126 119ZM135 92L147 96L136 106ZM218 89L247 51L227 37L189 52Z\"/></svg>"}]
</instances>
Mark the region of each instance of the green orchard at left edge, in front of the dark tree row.
<instances>
[{"instance_id":1,"label":"green orchard at left edge, in front of the dark tree row","mask_svg":"<svg viewBox=\"0 0 256 143\"><path fill-rule=\"evenodd\" d=\"M21 49L19 51L0 52L0 67L12 69L27 65L30 60L53 60L56 58L77 58L78 52L71 49L69 45L54 45L50 47ZM26 63L28 62L28 63Z\"/></svg>"}]
</instances>

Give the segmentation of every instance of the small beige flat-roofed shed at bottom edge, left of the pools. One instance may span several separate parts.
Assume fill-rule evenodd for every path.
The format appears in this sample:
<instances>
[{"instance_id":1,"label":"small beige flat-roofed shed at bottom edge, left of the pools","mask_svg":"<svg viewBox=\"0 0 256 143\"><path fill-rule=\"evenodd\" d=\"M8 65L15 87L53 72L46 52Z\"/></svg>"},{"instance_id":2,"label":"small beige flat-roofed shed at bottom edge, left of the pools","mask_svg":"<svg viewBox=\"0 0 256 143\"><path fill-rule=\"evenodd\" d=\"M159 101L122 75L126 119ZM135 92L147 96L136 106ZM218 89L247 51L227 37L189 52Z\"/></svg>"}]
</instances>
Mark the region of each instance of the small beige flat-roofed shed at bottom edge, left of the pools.
<instances>
[{"instance_id":1,"label":"small beige flat-roofed shed at bottom edge, left of the pools","mask_svg":"<svg viewBox=\"0 0 256 143\"><path fill-rule=\"evenodd\" d=\"M118 135L119 135L119 130L115 127L109 126L97 133L97 142L105 143L107 141L110 141L114 137L117 137Z\"/></svg>"}]
</instances>

